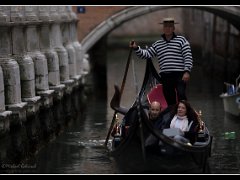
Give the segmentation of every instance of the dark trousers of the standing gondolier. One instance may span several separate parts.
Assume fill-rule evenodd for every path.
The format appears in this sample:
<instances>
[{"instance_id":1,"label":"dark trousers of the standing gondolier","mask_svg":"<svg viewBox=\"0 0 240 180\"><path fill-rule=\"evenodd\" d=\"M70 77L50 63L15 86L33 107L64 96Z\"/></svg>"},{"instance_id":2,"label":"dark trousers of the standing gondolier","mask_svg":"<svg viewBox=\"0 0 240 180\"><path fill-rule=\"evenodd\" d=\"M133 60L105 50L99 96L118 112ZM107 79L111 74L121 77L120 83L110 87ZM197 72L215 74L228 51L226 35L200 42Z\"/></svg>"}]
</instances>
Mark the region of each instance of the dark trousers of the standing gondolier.
<instances>
[{"instance_id":1,"label":"dark trousers of the standing gondolier","mask_svg":"<svg viewBox=\"0 0 240 180\"><path fill-rule=\"evenodd\" d=\"M163 93L168 105L174 105L179 100L187 100L186 83L182 80L184 72L160 73Z\"/></svg>"}]
</instances>

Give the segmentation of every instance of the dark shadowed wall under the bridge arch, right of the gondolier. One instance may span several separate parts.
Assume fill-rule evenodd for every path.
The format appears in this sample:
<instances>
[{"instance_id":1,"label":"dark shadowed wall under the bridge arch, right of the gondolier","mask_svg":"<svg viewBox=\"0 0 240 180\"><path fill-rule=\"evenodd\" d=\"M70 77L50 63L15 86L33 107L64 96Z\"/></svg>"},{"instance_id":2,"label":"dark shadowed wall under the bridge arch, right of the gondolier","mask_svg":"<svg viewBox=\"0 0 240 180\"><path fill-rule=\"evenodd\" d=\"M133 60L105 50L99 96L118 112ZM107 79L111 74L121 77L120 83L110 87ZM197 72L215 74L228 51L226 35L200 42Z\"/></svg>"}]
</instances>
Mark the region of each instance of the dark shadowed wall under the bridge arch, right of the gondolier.
<instances>
[{"instance_id":1,"label":"dark shadowed wall under the bridge arch, right of the gondolier","mask_svg":"<svg viewBox=\"0 0 240 180\"><path fill-rule=\"evenodd\" d=\"M227 19L198 9L186 9L184 17L184 31L200 50L194 60L207 73L235 84L240 72L239 30Z\"/></svg>"}]
</instances>

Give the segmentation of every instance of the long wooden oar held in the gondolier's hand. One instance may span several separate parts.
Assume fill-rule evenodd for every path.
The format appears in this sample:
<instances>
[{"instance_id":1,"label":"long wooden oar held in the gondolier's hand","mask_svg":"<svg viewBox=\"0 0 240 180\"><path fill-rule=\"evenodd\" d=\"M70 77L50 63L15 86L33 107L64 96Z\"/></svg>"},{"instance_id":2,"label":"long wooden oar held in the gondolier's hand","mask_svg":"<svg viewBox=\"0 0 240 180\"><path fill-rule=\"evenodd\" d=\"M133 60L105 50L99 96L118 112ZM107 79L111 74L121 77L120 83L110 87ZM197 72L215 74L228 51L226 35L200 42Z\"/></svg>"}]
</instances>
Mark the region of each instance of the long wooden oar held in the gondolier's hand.
<instances>
[{"instance_id":1,"label":"long wooden oar held in the gondolier's hand","mask_svg":"<svg viewBox=\"0 0 240 180\"><path fill-rule=\"evenodd\" d=\"M134 43L134 41L131 42L131 44L133 44L133 43ZM122 85L121 85L121 89L120 89L120 99L121 99L121 96L122 96L122 93L123 93L123 89L124 89L124 86L125 86L125 83L126 83L127 72L128 72L128 68L129 68L129 64L130 64L130 59L131 59L131 56L132 56L132 50L133 50L133 48L131 47L130 51L129 51L129 54L128 54L127 64L126 64L126 67L125 67L125 72L124 72ZM116 115L117 115L117 111L114 111L112 122L111 122L110 128L108 130L108 134L107 134L107 137L106 137L106 140L105 140L105 143L104 143L105 146L107 146L107 144L108 144L108 140L109 140L112 128L113 128L113 126L115 124Z\"/></svg>"}]
</instances>

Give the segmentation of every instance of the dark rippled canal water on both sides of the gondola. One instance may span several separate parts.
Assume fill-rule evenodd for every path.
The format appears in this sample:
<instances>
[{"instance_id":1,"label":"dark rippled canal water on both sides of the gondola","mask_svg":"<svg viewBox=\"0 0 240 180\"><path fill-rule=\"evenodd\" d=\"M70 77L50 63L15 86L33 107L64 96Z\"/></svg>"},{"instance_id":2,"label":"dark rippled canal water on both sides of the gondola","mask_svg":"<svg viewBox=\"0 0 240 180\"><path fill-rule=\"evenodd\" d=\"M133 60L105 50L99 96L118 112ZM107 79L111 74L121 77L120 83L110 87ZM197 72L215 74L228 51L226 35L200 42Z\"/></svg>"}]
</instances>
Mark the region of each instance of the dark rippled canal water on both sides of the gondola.
<instances>
[{"instance_id":1,"label":"dark rippled canal water on both sides of the gondola","mask_svg":"<svg viewBox=\"0 0 240 180\"><path fill-rule=\"evenodd\" d=\"M109 106L114 93L113 85L121 85L128 53L128 49L109 51L108 99L98 99L94 94L88 96L82 117L73 121L68 129L43 147L34 158L23 164L22 167L25 168L21 168L18 173L119 173L114 159L109 156L103 144L114 113ZM145 61L139 60L134 54L132 57L121 100L121 106L125 107L130 107L136 98L135 89L140 89L145 71ZM222 89L223 81L219 77L204 73L198 63L194 64L187 95L192 106L202 111L202 118L213 135L211 173L238 174L240 173L240 119L230 118L224 113L223 103L219 97ZM236 138L226 139L224 133L232 131L236 133Z\"/></svg>"}]
</instances>

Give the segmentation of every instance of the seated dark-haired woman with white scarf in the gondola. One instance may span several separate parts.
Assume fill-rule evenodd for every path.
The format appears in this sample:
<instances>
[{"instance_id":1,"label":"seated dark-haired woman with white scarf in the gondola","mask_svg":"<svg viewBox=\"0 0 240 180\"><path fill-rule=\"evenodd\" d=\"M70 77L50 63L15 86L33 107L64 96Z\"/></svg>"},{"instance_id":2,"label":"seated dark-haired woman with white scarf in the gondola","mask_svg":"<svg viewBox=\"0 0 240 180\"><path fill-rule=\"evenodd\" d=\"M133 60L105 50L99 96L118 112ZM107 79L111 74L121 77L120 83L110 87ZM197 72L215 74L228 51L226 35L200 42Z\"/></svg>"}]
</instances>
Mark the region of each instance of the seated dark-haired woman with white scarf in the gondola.
<instances>
[{"instance_id":1,"label":"seated dark-haired woman with white scarf in the gondola","mask_svg":"<svg viewBox=\"0 0 240 180\"><path fill-rule=\"evenodd\" d=\"M179 101L173 107L168 120L161 122L161 129L177 128L184 132L183 135L176 135L174 139L184 143L193 144L199 131L198 115L187 101Z\"/></svg>"}]
</instances>

